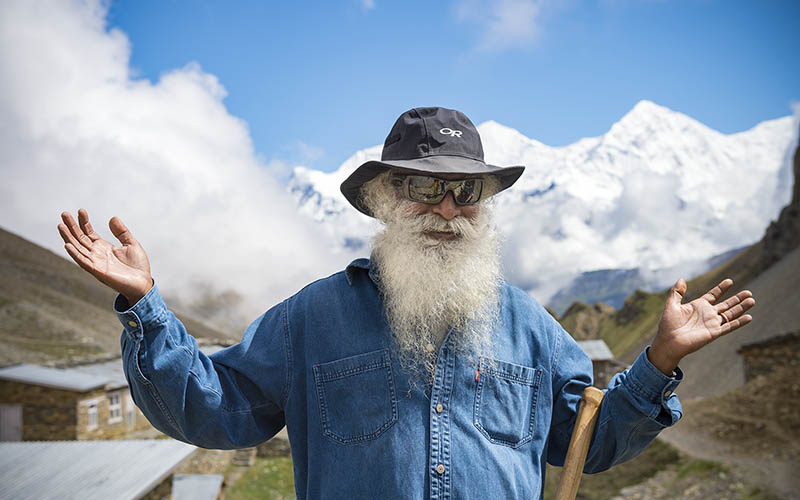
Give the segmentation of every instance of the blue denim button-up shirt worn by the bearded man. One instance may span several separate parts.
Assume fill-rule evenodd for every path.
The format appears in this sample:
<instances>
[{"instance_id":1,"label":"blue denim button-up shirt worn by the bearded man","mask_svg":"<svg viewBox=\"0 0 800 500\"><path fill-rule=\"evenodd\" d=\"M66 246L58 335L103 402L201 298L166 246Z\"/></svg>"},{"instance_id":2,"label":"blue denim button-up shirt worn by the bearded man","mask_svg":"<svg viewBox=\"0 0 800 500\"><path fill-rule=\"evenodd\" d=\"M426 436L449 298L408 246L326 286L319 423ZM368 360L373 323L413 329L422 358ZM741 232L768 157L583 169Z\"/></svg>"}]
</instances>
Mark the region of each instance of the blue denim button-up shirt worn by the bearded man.
<instances>
[{"instance_id":1,"label":"blue denim button-up shirt worn by the bearded man","mask_svg":"<svg viewBox=\"0 0 800 500\"><path fill-rule=\"evenodd\" d=\"M287 427L298 498L541 498L564 463L592 364L527 293L503 284L494 359L448 336L433 385L392 353L369 260L264 313L206 356L152 290L115 308L136 404L159 430L205 448L255 446ZM670 378L639 356L610 383L586 472L636 456L675 423Z\"/></svg>"}]
</instances>

